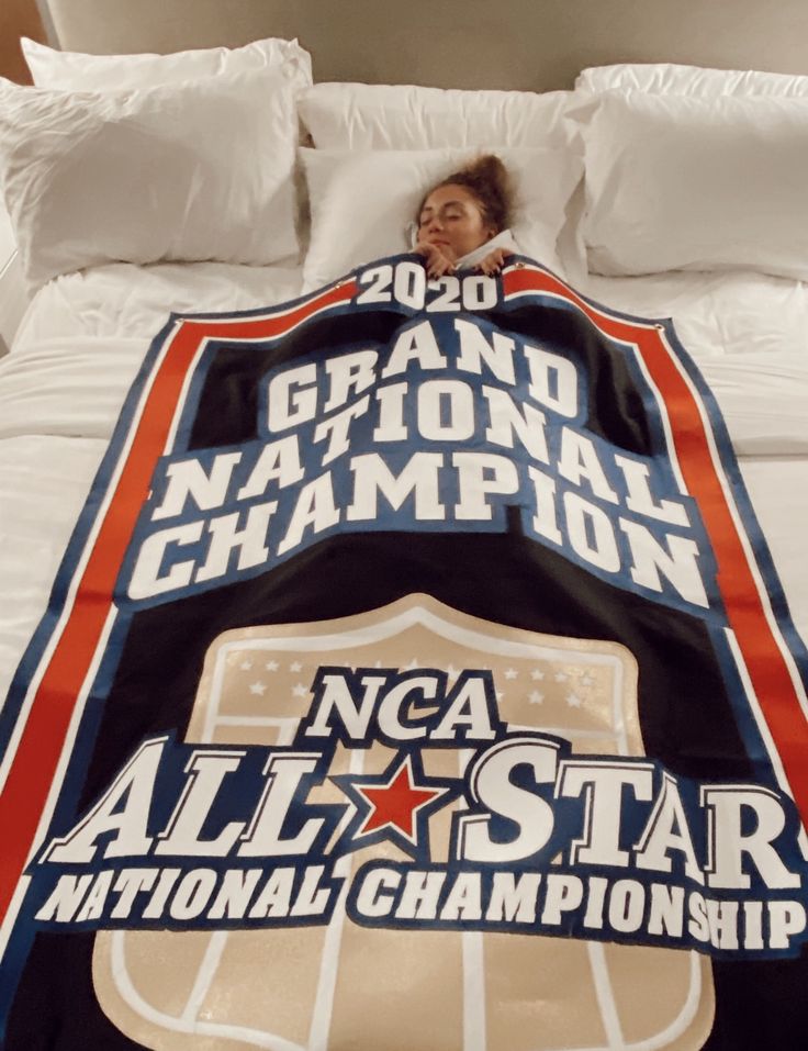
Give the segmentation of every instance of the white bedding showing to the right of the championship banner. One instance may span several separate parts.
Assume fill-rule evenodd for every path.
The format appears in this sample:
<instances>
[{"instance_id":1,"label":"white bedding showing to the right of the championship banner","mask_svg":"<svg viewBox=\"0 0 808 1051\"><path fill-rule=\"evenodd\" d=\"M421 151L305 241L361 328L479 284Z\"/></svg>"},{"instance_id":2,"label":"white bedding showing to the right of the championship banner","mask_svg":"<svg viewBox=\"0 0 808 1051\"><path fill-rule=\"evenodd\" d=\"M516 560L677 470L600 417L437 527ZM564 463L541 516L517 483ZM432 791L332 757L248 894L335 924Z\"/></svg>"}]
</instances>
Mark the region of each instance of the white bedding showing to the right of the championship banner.
<instances>
[{"instance_id":1,"label":"white bedding showing to the right of the championship banner","mask_svg":"<svg viewBox=\"0 0 808 1051\"><path fill-rule=\"evenodd\" d=\"M727 424L795 627L808 641L808 284L752 271L588 275L614 310L671 317Z\"/></svg>"}]
</instances>

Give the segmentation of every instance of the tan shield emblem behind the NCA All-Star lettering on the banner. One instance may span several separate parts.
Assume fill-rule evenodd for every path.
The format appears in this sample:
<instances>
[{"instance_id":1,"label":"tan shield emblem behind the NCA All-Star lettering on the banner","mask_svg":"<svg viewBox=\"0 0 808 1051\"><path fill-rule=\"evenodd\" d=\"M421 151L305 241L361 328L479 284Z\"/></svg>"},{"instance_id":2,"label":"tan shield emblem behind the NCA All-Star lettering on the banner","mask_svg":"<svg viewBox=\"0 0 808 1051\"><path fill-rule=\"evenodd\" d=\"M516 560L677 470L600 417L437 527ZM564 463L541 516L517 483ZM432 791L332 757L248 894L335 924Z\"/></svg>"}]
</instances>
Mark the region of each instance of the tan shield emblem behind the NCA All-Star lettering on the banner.
<instances>
[{"instance_id":1,"label":"tan shield emblem behind the NCA All-Star lettering on the banner","mask_svg":"<svg viewBox=\"0 0 808 1051\"><path fill-rule=\"evenodd\" d=\"M324 666L439 670L449 685L462 670L483 669L508 734L540 728L576 753L642 754L637 667L625 647L506 628L426 595L336 622L226 633L209 650L189 740L290 745ZM330 769L375 775L393 754L379 741L339 745ZM457 778L470 754L427 742L424 774ZM310 800L346 797L326 780ZM436 861L447 859L458 805L429 818ZM706 958L520 933L396 930L394 921L361 927L346 916L345 897L371 857L405 859L391 841L344 854L335 873L346 883L325 926L100 932L93 975L102 1008L132 1039L167 1051L326 1051L360 1040L379 1051L702 1047L712 1016ZM547 1011L548 1002L564 1003L563 1016Z\"/></svg>"}]
</instances>

